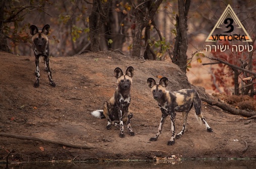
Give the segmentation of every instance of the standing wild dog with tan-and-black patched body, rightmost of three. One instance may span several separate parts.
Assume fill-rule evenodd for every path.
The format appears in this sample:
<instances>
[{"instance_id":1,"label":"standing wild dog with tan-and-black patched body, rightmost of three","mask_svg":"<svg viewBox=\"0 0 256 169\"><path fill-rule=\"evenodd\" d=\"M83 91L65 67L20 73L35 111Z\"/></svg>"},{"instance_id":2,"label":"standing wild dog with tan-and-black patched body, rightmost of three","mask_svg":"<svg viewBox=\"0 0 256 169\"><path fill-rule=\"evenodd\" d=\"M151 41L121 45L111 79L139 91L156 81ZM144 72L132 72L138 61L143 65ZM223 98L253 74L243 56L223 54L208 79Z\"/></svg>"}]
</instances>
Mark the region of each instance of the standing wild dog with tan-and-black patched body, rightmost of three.
<instances>
[{"instance_id":1,"label":"standing wild dog with tan-and-black patched body, rightmost of three","mask_svg":"<svg viewBox=\"0 0 256 169\"><path fill-rule=\"evenodd\" d=\"M201 114L201 99L199 94L193 89L182 89L176 92L171 92L166 90L166 86L168 84L168 79L163 77L159 84L156 84L156 81L152 78L147 79L147 84L151 88L151 92L153 94L153 98L158 101L158 105L162 111L162 118L160 125L158 127L158 133L155 137L149 139L149 141L157 141L159 135L162 133L163 125L165 123L166 117L170 115L171 117L171 132L172 137L171 140L168 141L167 145L173 145L175 139L181 137L182 134L187 129L187 115L190 109L195 108L195 117L196 119L206 125L208 132L213 132L211 127L208 125L206 120ZM182 112L183 116L183 128L180 133L176 135L175 133L175 116L176 112Z\"/></svg>"}]
</instances>

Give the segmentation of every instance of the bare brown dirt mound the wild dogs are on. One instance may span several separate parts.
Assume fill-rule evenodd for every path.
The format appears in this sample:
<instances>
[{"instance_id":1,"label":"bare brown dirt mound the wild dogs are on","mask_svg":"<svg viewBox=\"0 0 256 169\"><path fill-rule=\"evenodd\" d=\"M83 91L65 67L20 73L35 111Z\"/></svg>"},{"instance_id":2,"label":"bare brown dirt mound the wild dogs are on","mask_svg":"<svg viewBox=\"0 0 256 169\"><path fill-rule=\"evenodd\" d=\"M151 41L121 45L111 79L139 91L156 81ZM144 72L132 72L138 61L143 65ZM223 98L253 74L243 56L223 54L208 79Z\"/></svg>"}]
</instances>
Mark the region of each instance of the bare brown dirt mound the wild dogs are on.
<instances>
[{"instance_id":1,"label":"bare brown dirt mound the wild dogs are on","mask_svg":"<svg viewBox=\"0 0 256 169\"><path fill-rule=\"evenodd\" d=\"M174 64L142 61L110 51L50 58L57 87L49 86L40 62L40 86L34 88L33 56L4 52L0 55L0 134L25 135L91 147L81 149L0 136L2 160L12 150L15 153L9 158L20 161L153 159L154 156L173 154L198 158L256 156L255 121L244 124L242 117L229 115L206 103L202 105L202 112L213 133L208 133L204 125L198 125L192 109L187 132L173 146L167 146L171 138L170 119L167 119L159 140L149 142L149 138L157 133L161 111L146 84L147 78L159 81L157 76L167 77L169 90L191 87L185 74ZM107 130L107 120L94 118L90 112L103 108L104 102L112 97L116 88L114 69L120 67L125 71L128 66L132 66L135 72L130 104L135 136L129 136L126 130L126 137L120 138L118 129L112 127ZM182 129L180 114L176 116L176 129L177 132Z\"/></svg>"}]
</instances>

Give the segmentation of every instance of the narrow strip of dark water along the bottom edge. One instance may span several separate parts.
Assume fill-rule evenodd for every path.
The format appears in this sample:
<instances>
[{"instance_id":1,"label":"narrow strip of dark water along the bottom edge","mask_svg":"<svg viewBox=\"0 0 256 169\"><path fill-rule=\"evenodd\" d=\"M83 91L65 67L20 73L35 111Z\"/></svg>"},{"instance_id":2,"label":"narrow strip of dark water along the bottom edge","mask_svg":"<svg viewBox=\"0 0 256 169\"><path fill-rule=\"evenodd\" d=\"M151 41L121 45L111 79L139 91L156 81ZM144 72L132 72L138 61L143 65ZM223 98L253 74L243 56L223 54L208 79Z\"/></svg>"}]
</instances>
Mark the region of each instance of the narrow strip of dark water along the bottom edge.
<instances>
[{"instance_id":1,"label":"narrow strip of dark water along the bottom edge","mask_svg":"<svg viewBox=\"0 0 256 169\"><path fill-rule=\"evenodd\" d=\"M0 164L0 169L4 169L5 164ZM161 169L254 169L256 168L256 160L189 160L189 161L175 161L167 163L154 163L154 162L104 162L104 163L51 163L51 162L36 162L36 163L23 163L23 164L10 164L11 169L86 169L86 168L122 168L122 169L144 169L144 168L161 168Z\"/></svg>"}]
</instances>

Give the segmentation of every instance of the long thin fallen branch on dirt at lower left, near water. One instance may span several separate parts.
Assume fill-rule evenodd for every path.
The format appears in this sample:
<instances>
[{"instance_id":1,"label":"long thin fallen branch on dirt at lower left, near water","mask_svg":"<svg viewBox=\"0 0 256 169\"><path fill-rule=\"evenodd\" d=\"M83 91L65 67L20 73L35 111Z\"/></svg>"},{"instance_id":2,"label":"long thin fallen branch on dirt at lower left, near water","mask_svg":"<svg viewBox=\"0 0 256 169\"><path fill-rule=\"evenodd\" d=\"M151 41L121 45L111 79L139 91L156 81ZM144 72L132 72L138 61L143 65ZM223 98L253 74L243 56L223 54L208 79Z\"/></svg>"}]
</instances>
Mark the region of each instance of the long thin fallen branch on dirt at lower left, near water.
<instances>
[{"instance_id":1,"label":"long thin fallen branch on dirt at lower left, near water","mask_svg":"<svg viewBox=\"0 0 256 169\"><path fill-rule=\"evenodd\" d=\"M32 141L40 141L43 143L51 143L51 144L59 144L62 146L68 146L68 147L73 147L73 148L85 148L85 149L91 149L93 147L87 146L87 145L77 145L77 144L72 144L72 143L66 143L63 141L54 141L54 140L47 140L39 137L31 137L31 136L25 136L25 135L16 135L16 134L8 134L8 133L0 133L0 136L2 137L11 137L11 138L16 138L16 139L21 139L21 140L32 140Z\"/></svg>"}]
</instances>

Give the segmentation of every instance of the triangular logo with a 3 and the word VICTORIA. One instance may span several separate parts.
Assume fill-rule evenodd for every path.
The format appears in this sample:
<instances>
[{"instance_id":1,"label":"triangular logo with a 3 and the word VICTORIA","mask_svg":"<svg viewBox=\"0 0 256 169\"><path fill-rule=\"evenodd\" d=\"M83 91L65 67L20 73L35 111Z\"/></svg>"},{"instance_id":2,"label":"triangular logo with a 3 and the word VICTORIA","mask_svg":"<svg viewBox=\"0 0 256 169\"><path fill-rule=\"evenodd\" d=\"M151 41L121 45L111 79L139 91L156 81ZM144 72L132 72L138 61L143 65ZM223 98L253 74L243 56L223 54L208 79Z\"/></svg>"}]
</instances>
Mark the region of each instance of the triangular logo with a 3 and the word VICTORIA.
<instances>
[{"instance_id":1,"label":"triangular logo with a 3 and the word VICTORIA","mask_svg":"<svg viewBox=\"0 0 256 169\"><path fill-rule=\"evenodd\" d=\"M206 42L216 40L252 42L249 34L244 29L230 5L227 6L221 15L212 32L207 37Z\"/></svg>"}]
</instances>

